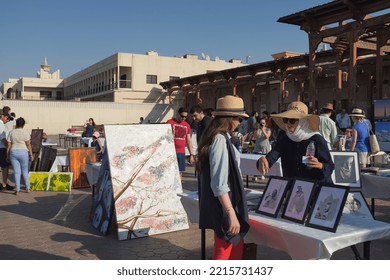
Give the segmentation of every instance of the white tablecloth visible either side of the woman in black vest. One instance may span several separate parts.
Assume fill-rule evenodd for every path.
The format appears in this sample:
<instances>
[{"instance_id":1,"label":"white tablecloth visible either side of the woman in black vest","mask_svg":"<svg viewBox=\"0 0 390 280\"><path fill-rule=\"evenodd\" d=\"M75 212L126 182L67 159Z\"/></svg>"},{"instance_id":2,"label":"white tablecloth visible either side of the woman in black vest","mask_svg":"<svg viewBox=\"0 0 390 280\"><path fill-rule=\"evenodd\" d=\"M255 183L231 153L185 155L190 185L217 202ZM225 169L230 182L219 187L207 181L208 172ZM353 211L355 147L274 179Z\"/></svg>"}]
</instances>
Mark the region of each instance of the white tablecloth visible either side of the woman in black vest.
<instances>
[{"instance_id":1,"label":"white tablecloth visible either side of the woman in black vest","mask_svg":"<svg viewBox=\"0 0 390 280\"><path fill-rule=\"evenodd\" d=\"M248 204L250 204L252 201L256 201L260 198L260 196L263 194L262 191L258 190L251 190L251 189L245 189L246 199L248 201ZM198 223L199 222L199 199L198 199L198 192L184 192L178 194L180 196L181 202L183 204L184 209L187 212L187 216L191 223Z\"/></svg>"}]
</instances>

